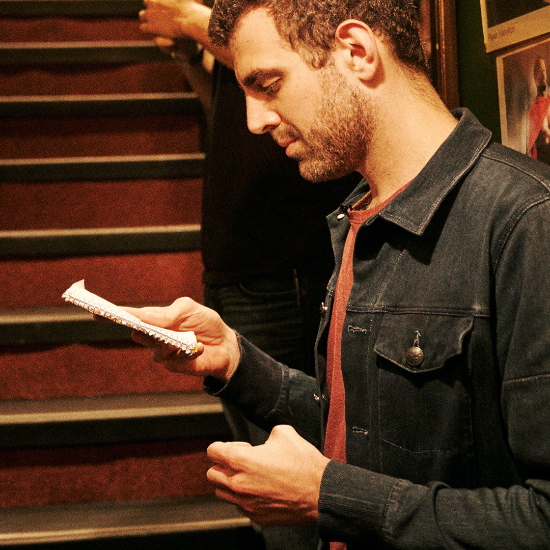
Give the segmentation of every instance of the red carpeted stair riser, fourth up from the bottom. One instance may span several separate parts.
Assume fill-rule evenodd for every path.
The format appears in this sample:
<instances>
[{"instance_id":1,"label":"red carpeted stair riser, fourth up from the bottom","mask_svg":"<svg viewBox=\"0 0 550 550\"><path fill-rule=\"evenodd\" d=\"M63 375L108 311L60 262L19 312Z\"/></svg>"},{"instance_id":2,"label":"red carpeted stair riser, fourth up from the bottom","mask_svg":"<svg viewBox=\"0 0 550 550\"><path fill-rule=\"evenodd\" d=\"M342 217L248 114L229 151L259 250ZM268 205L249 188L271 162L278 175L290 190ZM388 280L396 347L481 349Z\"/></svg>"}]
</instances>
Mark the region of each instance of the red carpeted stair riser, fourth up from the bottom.
<instances>
[{"instance_id":1,"label":"red carpeted stair riser, fourth up from the bottom","mask_svg":"<svg viewBox=\"0 0 550 550\"><path fill-rule=\"evenodd\" d=\"M200 212L200 179L0 186L0 230L177 226Z\"/></svg>"}]
</instances>

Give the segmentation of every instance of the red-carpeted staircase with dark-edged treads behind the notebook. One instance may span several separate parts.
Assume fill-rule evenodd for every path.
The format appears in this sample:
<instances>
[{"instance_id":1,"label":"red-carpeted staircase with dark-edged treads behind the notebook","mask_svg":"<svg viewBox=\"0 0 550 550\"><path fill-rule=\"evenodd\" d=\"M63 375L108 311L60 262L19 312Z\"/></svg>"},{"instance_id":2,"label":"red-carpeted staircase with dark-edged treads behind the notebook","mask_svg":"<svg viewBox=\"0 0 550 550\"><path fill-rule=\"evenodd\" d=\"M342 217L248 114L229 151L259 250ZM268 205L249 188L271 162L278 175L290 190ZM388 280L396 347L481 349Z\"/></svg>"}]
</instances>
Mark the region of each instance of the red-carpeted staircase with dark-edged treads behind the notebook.
<instances>
[{"instance_id":1,"label":"red-carpeted staircase with dark-edged treads behind the notebook","mask_svg":"<svg viewBox=\"0 0 550 550\"><path fill-rule=\"evenodd\" d=\"M204 116L135 0L0 0L0 546L250 548L200 379L61 294L202 298Z\"/></svg>"}]
</instances>

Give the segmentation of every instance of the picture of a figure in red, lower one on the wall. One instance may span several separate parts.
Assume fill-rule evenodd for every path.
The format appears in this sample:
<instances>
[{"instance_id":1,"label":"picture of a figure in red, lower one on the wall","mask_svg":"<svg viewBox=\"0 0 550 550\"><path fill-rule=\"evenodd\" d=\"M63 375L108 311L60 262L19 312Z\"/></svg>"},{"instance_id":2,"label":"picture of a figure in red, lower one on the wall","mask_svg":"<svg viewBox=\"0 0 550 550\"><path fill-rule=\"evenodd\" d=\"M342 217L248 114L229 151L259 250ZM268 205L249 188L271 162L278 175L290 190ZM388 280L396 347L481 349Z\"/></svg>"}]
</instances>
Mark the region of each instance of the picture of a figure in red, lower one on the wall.
<instances>
[{"instance_id":1,"label":"picture of a figure in red, lower one on the wall","mask_svg":"<svg viewBox=\"0 0 550 550\"><path fill-rule=\"evenodd\" d=\"M497 56L504 145L550 164L550 37Z\"/></svg>"}]
</instances>

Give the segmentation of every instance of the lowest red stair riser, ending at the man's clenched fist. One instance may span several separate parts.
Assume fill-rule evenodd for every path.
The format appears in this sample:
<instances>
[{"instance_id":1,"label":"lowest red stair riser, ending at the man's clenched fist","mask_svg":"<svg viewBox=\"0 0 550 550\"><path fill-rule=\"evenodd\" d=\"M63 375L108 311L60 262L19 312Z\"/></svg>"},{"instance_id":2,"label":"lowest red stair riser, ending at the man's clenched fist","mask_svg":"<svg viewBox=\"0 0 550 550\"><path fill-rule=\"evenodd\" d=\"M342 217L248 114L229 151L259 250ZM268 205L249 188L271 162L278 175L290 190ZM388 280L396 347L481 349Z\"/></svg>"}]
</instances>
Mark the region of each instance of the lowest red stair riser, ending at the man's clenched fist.
<instances>
[{"instance_id":1,"label":"lowest red stair riser, ending at the man's clenched fist","mask_svg":"<svg viewBox=\"0 0 550 550\"><path fill-rule=\"evenodd\" d=\"M212 493L205 450L212 441L0 450L0 508Z\"/></svg>"}]
</instances>

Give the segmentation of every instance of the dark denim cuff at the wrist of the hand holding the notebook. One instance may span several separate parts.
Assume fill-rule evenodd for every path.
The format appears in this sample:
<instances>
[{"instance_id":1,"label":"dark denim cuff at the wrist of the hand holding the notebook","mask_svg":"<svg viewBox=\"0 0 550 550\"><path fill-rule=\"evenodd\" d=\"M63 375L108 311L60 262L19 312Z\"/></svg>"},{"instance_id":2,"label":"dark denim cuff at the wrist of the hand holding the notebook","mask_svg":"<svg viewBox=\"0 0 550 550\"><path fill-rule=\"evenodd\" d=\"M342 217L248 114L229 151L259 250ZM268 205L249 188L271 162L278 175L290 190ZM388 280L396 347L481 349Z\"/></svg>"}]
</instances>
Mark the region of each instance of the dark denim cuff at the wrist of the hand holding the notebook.
<instances>
[{"instance_id":1,"label":"dark denim cuff at the wrist of the hand holding the notebook","mask_svg":"<svg viewBox=\"0 0 550 550\"><path fill-rule=\"evenodd\" d=\"M207 393L231 401L245 415L266 417L275 407L283 379L282 365L237 334L240 360L224 384L210 376L204 380Z\"/></svg>"}]
</instances>

